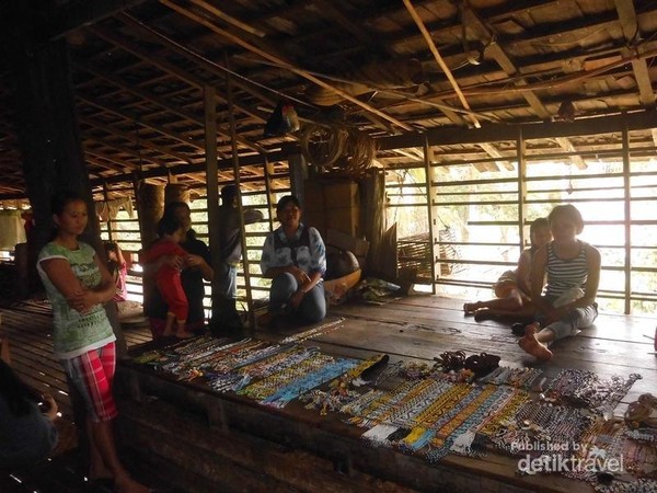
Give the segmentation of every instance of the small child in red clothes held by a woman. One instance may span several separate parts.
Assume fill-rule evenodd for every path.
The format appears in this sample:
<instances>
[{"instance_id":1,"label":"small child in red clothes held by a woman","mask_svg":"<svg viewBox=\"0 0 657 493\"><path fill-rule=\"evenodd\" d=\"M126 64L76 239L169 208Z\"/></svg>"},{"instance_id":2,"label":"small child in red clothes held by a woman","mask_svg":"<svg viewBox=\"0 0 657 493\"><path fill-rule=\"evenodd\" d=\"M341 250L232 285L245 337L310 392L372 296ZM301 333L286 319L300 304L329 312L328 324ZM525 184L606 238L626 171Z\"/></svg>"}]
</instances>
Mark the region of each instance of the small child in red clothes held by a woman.
<instances>
[{"instance_id":1,"label":"small child in red clothes held by a woman","mask_svg":"<svg viewBox=\"0 0 657 493\"><path fill-rule=\"evenodd\" d=\"M163 217L158 222L158 237L160 239L145 254L143 262L151 263L165 255L175 255L182 257L182 265L187 259L187 252L178 244L185 238L184 226L172 217ZM163 335L174 335L185 339L193 337L192 332L187 332L185 323L189 312L187 296L183 290L181 283L181 271L168 262L158 262L155 272L155 285L164 298L169 311L166 312L166 325ZM176 325L174 332L174 322Z\"/></svg>"}]
</instances>

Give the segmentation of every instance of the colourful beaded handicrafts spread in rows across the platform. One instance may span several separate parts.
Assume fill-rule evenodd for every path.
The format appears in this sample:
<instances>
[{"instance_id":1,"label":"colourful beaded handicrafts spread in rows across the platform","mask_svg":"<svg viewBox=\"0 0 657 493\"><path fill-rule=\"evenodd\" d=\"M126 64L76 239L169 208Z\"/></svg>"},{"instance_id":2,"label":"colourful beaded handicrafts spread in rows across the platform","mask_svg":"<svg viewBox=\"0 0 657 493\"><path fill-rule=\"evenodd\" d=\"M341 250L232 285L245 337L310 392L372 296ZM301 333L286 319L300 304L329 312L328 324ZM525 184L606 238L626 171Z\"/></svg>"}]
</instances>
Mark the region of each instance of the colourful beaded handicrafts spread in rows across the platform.
<instances>
[{"instance_id":1,"label":"colourful beaded handicrafts spread in rows across the platform","mask_svg":"<svg viewBox=\"0 0 657 493\"><path fill-rule=\"evenodd\" d=\"M387 355L358 360L299 344L313 335L279 344L199 337L135 360L262 405L283 408L298 399L322 415L339 413L346 423L366 428L361 436L369 445L430 462L448 454L482 457L493 447L516 456L519 473L558 472L607 492L631 491L610 489L608 482L629 484L614 481L614 467L654 478L656 433L648 425L657 399L644 394L631 404L627 423L611 420L641 378L636 374L602 379L564 369L548 379L539 369L500 367L497 356L463 352L445 352L434 366L389 364ZM637 484L654 485L649 480Z\"/></svg>"}]
</instances>

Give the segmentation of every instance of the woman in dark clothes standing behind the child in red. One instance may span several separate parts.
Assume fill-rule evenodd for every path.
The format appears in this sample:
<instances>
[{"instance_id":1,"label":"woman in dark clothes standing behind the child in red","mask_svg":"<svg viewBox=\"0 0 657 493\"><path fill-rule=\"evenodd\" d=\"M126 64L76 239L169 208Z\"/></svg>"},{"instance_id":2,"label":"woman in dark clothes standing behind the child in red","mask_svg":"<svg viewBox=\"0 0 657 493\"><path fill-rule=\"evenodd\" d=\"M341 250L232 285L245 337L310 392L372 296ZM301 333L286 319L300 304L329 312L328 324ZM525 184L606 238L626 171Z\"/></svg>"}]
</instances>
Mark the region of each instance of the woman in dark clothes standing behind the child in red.
<instances>
[{"instance_id":1,"label":"woman in dark clothes standing behind the child in red","mask_svg":"<svg viewBox=\"0 0 657 493\"><path fill-rule=\"evenodd\" d=\"M192 211L184 202L171 202L164 207L162 219L173 219L180 222L185 230L185 238L180 243L187 252L185 257L178 255L163 255L157 261L145 264L143 270L143 312L148 317L153 339L164 334L166 328L166 313L169 307L155 286L155 273L162 265L178 268L181 271L181 283L187 297L189 307L186 332L200 333L205 330L205 280L212 280L215 271L210 266L210 251L208 246L196 238L192 229Z\"/></svg>"}]
</instances>

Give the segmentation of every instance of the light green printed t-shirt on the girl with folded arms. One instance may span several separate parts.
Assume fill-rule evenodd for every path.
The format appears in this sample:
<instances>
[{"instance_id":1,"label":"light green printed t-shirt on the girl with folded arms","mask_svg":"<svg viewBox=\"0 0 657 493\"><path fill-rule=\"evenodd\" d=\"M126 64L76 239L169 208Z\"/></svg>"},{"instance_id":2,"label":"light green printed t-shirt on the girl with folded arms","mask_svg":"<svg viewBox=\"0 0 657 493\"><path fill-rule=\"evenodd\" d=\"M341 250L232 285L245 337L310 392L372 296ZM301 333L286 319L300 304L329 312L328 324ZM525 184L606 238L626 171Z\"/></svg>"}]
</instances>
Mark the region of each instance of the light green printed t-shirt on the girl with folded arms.
<instances>
[{"instance_id":1,"label":"light green printed t-shirt on the girl with folded arms","mask_svg":"<svg viewBox=\"0 0 657 493\"><path fill-rule=\"evenodd\" d=\"M38 254L36 268L53 306L55 319L53 343L55 356L59 359L70 359L89 351L97 349L115 341L116 337L102 305L95 305L84 313L73 310L69 307L65 296L50 282L41 263L48 259L68 261L82 286L92 289L101 284L102 278L94 256L95 250L82 242L79 243L78 250L48 243Z\"/></svg>"}]
</instances>

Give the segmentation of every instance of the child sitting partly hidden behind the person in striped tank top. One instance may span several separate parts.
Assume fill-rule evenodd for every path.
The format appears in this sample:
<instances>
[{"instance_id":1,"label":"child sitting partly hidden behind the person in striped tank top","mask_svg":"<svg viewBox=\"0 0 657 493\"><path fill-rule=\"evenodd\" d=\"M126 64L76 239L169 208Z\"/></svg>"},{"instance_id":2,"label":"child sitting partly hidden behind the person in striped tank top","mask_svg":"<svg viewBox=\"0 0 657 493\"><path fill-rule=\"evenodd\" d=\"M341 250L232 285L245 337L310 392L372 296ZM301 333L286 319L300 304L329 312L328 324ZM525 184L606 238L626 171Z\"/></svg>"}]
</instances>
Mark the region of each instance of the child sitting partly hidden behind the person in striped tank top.
<instances>
[{"instance_id":1,"label":"child sitting partly hidden behind the person in striped tank top","mask_svg":"<svg viewBox=\"0 0 657 493\"><path fill-rule=\"evenodd\" d=\"M534 219L529 227L531 246L520 254L518 267L505 272L493 285L497 298L463 305L465 314L474 313L474 320L497 318L531 320L533 305L530 298L531 262L534 253L552 240L550 223L544 217Z\"/></svg>"}]
</instances>

